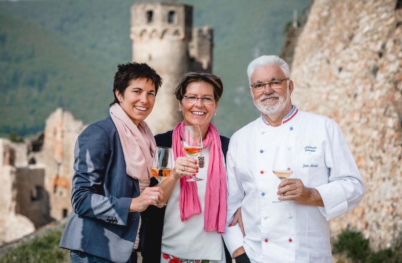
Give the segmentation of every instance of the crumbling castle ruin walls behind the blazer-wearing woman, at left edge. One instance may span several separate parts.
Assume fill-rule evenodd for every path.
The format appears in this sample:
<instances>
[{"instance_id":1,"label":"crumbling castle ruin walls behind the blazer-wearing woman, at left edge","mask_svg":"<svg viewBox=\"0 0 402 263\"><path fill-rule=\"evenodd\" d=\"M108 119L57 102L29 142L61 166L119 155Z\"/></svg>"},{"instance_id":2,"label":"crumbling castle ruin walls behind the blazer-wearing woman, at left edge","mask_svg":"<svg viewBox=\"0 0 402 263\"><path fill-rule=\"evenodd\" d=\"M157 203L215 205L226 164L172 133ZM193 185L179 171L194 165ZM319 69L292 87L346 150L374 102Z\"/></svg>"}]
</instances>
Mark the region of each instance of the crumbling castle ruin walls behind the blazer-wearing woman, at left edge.
<instances>
[{"instance_id":1,"label":"crumbling castle ruin walls behind the blazer-wearing woman, at left edge","mask_svg":"<svg viewBox=\"0 0 402 263\"><path fill-rule=\"evenodd\" d=\"M27 143L0 139L0 246L70 214L74 144L83 129L57 109Z\"/></svg>"}]
</instances>

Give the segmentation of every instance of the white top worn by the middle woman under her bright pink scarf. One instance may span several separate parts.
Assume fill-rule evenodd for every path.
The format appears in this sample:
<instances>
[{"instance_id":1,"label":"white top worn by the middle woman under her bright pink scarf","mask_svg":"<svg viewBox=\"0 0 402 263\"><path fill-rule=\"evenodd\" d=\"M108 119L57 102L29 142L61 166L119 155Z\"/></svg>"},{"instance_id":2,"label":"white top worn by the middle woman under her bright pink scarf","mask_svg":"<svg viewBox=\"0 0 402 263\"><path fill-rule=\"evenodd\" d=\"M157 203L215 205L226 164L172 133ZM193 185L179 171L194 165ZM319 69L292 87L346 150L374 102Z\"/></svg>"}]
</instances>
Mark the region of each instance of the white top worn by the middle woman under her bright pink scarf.
<instances>
[{"instance_id":1,"label":"white top worn by the middle woman under her bright pink scarf","mask_svg":"<svg viewBox=\"0 0 402 263\"><path fill-rule=\"evenodd\" d=\"M201 214L193 215L184 222L181 221L179 208L180 180L178 180L171 196L167 200L161 252L184 259L221 260L222 235L217 231L205 232L204 230L209 147L203 149L201 154L204 156L205 166L198 170L197 177L204 180L195 182L198 187Z\"/></svg>"}]
</instances>

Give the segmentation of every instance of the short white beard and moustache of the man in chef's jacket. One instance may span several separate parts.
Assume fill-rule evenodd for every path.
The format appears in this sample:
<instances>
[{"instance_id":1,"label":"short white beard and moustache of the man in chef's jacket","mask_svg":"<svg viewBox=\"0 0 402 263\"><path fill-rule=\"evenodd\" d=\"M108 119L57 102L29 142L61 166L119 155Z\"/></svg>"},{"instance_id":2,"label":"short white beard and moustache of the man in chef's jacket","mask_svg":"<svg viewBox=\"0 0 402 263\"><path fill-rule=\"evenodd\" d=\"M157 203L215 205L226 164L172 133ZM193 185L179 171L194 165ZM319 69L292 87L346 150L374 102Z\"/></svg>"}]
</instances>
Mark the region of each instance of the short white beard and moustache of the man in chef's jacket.
<instances>
[{"instance_id":1,"label":"short white beard and moustache of the man in chef's jacket","mask_svg":"<svg viewBox=\"0 0 402 263\"><path fill-rule=\"evenodd\" d=\"M264 113L265 115L273 115L281 112L287 105L287 103L290 100L290 92L289 92L289 87L287 88L286 94L283 96L279 96L277 93L271 93L269 95L262 94L261 97L259 97L257 100L254 99L254 96L252 96L254 105L256 105L257 109ZM269 100L264 100L266 98L279 98L279 100L276 100L276 102L270 102Z\"/></svg>"}]
</instances>

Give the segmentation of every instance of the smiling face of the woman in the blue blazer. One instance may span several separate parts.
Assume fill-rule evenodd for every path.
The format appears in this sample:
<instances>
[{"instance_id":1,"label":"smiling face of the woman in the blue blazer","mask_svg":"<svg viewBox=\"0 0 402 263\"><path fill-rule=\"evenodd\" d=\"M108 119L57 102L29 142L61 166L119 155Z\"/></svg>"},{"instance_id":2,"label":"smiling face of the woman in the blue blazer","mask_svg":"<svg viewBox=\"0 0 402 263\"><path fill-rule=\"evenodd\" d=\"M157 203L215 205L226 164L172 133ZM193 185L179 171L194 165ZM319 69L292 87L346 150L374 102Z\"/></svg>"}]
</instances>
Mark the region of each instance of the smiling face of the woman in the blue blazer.
<instances>
[{"instance_id":1,"label":"smiling face of the woman in the blue blazer","mask_svg":"<svg viewBox=\"0 0 402 263\"><path fill-rule=\"evenodd\" d=\"M155 104L155 85L144 77L130 80L123 94L115 93L121 108L136 126L151 113Z\"/></svg>"}]
</instances>

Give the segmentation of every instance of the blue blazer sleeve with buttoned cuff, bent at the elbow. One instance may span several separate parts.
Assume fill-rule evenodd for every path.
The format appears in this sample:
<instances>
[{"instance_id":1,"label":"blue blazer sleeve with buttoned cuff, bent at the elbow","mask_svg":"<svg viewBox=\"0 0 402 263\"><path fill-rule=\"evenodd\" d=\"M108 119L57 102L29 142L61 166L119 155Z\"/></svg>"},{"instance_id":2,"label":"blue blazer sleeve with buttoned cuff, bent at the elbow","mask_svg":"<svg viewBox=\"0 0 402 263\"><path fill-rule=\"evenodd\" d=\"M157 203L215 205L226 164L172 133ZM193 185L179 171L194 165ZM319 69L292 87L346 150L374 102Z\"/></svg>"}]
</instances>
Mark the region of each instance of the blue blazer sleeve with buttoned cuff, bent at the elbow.
<instances>
[{"instance_id":1,"label":"blue blazer sleeve with buttoned cuff, bent at the elbow","mask_svg":"<svg viewBox=\"0 0 402 263\"><path fill-rule=\"evenodd\" d=\"M98 125L87 127L74 149L74 176L71 203L80 216L117 225L127 225L130 197L106 197L104 175L110 158L109 138Z\"/></svg>"}]
</instances>

